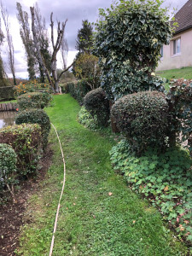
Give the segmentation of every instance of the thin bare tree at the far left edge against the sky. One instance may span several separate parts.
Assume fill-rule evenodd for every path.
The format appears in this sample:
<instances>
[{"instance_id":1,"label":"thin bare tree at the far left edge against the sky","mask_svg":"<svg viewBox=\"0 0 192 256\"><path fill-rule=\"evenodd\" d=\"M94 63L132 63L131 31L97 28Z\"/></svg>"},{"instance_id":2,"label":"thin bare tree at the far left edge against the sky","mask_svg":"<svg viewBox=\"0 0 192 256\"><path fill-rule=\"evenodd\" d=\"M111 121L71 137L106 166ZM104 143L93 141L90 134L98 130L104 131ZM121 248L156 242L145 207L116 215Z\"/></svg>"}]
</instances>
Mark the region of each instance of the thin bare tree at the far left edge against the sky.
<instances>
[{"instance_id":1,"label":"thin bare tree at the far left edge against the sky","mask_svg":"<svg viewBox=\"0 0 192 256\"><path fill-rule=\"evenodd\" d=\"M9 24L9 14L7 9L3 6L3 3L0 3L0 9L1 9L1 14L3 17L3 23L5 26L5 32L6 32L6 40L8 43L8 62L9 62L9 69L13 75L14 79L14 84L16 85L16 79L15 79L15 57L14 57L14 44L13 44L13 39L10 34L10 24Z\"/></svg>"}]
</instances>

